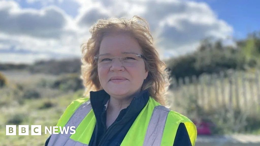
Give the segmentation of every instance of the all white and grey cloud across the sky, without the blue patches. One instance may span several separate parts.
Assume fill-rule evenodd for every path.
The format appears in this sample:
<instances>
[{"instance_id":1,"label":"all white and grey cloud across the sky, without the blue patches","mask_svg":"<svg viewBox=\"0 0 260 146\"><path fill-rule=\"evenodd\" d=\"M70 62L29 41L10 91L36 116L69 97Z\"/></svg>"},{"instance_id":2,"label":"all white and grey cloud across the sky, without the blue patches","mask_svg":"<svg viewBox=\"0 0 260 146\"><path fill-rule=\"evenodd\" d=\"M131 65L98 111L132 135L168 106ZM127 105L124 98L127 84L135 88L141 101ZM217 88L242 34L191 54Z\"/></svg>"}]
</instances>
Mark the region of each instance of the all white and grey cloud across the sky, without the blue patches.
<instances>
[{"instance_id":1,"label":"all white and grey cloud across the sky, without the blue patches","mask_svg":"<svg viewBox=\"0 0 260 146\"><path fill-rule=\"evenodd\" d=\"M14 1L0 1L0 62L12 57L18 58L16 61L30 62L41 57L80 56L80 45L89 38L90 26L100 18L111 16L144 17L158 42L161 57L165 58L193 51L203 38L225 39L233 32L232 27L220 20L206 3L181 0L74 1L80 6L75 18L54 5L36 10L20 8ZM27 2L44 3L42 0ZM45 1L48 5L54 2ZM6 53L8 49L17 54ZM8 54L9 58L3 57ZM27 57L22 57L24 54Z\"/></svg>"}]
</instances>

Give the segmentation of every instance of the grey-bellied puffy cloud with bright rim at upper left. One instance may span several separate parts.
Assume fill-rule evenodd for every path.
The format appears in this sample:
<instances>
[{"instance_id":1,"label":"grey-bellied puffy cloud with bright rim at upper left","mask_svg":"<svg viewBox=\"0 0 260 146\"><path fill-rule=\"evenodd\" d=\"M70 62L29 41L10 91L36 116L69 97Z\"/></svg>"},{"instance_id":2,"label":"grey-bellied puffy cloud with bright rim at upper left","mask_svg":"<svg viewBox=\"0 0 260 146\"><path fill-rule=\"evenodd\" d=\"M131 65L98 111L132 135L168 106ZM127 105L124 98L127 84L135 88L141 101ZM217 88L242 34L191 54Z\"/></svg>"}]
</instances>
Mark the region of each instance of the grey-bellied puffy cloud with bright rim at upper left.
<instances>
[{"instance_id":1,"label":"grey-bellied puffy cloud with bright rim at upper left","mask_svg":"<svg viewBox=\"0 0 260 146\"><path fill-rule=\"evenodd\" d=\"M12 1L0 1L0 5L0 30L9 35L58 38L62 35L69 19L55 6L48 6L41 10L24 10Z\"/></svg>"}]
</instances>

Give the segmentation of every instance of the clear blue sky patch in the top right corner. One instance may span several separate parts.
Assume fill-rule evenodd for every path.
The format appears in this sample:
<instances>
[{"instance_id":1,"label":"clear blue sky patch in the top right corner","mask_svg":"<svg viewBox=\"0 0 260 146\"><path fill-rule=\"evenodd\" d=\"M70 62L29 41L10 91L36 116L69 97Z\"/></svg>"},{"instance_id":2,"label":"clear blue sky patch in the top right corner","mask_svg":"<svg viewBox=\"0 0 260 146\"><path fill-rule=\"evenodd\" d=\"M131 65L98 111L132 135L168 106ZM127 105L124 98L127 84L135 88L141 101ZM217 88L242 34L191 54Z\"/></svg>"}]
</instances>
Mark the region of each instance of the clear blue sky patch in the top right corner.
<instances>
[{"instance_id":1,"label":"clear blue sky patch in the top right corner","mask_svg":"<svg viewBox=\"0 0 260 146\"><path fill-rule=\"evenodd\" d=\"M233 37L243 39L248 33L260 31L260 1L257 0L196 0L206 2L218 15L229 23Z\"/></svg>"}]
</instances>

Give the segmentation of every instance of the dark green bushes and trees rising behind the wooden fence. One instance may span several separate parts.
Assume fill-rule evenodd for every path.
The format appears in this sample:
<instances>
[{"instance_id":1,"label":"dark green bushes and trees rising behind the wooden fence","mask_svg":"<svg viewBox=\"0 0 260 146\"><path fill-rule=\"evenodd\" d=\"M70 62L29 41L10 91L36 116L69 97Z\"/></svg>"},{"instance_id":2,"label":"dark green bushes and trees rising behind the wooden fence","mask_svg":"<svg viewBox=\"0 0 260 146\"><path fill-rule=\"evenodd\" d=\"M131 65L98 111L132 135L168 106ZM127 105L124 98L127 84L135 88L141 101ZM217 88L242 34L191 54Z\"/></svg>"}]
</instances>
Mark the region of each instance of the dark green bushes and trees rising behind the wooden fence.
<instances>
[{"instance_id":1,"label":"dark green bushes and trees rising behind the wooden fence","mask_svg":"<svg viewBox=\"0 0 260 146\"><path fill-rule=\"evenodd\" d=\"M196 51L166 61L170 76L197 77L203 73L219 73L228 69L248 70L260 66L260 32L224 46L221 40L204 39Z\"/></svg>"}]
</instances>

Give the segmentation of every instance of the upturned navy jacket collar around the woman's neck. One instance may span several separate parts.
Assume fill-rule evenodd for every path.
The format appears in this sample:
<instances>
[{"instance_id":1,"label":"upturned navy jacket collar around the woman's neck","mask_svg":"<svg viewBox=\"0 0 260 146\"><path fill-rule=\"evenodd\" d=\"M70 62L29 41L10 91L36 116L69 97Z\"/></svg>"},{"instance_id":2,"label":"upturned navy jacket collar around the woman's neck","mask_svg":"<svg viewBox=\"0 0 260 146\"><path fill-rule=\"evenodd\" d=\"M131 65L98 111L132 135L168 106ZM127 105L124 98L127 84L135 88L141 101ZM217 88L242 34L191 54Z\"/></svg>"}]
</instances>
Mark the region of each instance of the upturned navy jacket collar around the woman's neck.
<instances>
[{"instance_id":1,"label":"upturned navy jacket collar around the woman's neck","mask_svg":"<svg viewBox=\"0 0 260 146\"><path fill-rule=\"evenodd\" d=\"M131 118L132 116L139 114L140 111L145 107L149 100L148 90L141 91L131 101L130 105L126 109L128 112L125 113L125 118ZM99 117L101 113L106 110L106 103L110 99L110 95L105 90L90 91L90 103L94 114ZM97 119L98 120L98 119Z\"/></svg>"}]
</instances>

